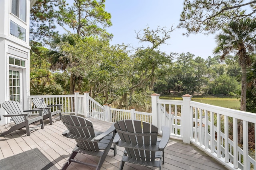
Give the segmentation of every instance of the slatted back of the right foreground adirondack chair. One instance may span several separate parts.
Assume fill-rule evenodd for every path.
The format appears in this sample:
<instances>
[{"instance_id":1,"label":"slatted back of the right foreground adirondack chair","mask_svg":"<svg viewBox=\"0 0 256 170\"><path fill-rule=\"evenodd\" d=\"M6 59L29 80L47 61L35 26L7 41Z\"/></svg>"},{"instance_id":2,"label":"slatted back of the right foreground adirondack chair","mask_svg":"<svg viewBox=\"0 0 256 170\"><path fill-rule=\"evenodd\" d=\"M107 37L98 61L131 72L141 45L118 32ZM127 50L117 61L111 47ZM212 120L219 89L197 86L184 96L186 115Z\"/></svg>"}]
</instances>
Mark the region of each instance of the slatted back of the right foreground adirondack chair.
<instances>
[{"instance_id":1,"label":"slatted back of the right foreground adirondack chair","mask_svg":"<svg viewBox=\"0 0 256 170\"><path fill-rule=\"evenodd\" d=\"M122 120L114 124L118 135L124 146L128 156L132 159L141 161L154 161L155 151L151 151L157 142L158 128L147 122ZM134 131L135 130L135 131ZM132 145L128 145L132 144ZM133 147L131 147L133 146Z\"/></svg>"}]
</instances>

